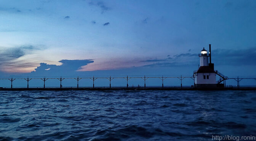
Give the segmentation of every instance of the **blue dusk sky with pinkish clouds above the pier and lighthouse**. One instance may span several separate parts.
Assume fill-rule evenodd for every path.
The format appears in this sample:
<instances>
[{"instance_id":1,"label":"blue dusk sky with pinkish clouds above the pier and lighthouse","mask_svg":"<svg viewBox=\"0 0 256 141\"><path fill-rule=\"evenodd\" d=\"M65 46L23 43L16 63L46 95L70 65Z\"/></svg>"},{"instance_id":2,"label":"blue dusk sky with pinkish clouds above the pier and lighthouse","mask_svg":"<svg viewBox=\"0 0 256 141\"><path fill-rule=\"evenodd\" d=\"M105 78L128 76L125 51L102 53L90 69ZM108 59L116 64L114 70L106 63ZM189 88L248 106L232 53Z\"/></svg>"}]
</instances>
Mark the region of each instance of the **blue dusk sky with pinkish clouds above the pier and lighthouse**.
<instances>
[{"instance_id":1,"label":"blue dusk sky with pinkish clouds above the pier and lighthouse","mask_svg":"<svg viewBox=\"0 0 256 141\"><path fill-rule=\"evenodd\" d=\"M198 69L198 53L203 47L208 50L208 44L212 44L216 70L228 77L256 76L255 0L0 3L2 78L192 76ZM168 81L168 85L179 85L179 80ZM229 81L230 85L236 84ZM245 85L256 85L255 80L243 81ZM9 85L8 81L0 81L2 86L6 83ZM152 81L151 85L158 83ZM187 80L186 85L190 84L193 81Z\"/></svg>"}]
</instances>

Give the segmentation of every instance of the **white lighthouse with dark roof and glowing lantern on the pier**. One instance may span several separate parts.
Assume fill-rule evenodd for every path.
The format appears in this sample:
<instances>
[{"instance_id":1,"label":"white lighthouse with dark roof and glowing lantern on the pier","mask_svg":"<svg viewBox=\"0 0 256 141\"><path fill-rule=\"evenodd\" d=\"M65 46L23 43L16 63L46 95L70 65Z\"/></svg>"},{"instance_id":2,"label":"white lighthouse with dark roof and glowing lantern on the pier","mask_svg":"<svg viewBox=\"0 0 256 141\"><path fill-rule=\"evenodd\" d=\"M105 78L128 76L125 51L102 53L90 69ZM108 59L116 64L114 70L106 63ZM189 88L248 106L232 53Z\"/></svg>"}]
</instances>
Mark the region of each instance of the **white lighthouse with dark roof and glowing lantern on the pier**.
<instances>
[{"instance_id":1,"label":"white lighthouse with dark roof and glowing lantern on the pier","mask_svg":"<svg viewBox=\"0 0 256 141\"><path fill-rule=\"evenodd\" d=\"M209 52L209 55L210 53L211 52ZM211 56L209 66L209 55L207 55L207 50L205 50L205 48L201 50L201 54L199 55L200 67L194 72L196 88L215 88L217 86L216 73L214 71L213 64L211 63Z\"/></svg>"}]
</instances>

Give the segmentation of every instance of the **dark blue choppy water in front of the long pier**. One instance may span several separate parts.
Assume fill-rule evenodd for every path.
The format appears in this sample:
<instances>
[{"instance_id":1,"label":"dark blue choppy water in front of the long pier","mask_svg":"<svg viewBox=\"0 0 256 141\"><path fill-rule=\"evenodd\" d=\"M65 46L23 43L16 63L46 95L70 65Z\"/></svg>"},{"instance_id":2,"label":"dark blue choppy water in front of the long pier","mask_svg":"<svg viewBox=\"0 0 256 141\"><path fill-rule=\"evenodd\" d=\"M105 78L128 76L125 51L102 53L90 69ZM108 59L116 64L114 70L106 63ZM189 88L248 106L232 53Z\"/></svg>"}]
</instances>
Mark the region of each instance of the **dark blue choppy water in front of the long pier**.
<instances>
[{"instance_id":1,"label":"dark blue choppy water in front of the long pier","mask_svg":"<svg viewBox=\"0 0 256 141\"><path fill-rule=\"evenodd\" d=\"M256 91L1 91L0 140L256 136Z\"/></svg>"}]
</instances>

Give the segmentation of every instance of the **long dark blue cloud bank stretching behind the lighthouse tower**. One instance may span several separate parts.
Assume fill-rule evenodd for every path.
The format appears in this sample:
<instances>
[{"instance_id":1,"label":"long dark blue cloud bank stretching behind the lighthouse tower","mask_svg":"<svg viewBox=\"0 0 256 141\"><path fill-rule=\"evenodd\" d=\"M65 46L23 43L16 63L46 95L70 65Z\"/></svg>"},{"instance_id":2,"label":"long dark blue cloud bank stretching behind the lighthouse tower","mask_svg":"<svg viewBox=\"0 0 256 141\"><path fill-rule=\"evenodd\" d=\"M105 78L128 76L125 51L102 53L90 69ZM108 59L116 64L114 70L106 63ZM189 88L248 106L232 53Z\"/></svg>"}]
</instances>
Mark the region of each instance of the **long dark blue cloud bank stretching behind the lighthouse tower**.
<instances>
[{"instance_id":1,"label":"long dark blue cloud bank stretching behind the lighthouse tower","mask_svg":"<svg viewBox=\"0 0 256 141\"><path fill-rule=\"evenodd\" d=\"M256 65L256 47L247 49L215 49L212 50L212 63L215 65L244 66ZM199 63L197 53L181 53L164 59L152 59L142 62L152 62L146 64L147 67L175 67L175 66L196 66Z\"/></svg>"}]
</instances>

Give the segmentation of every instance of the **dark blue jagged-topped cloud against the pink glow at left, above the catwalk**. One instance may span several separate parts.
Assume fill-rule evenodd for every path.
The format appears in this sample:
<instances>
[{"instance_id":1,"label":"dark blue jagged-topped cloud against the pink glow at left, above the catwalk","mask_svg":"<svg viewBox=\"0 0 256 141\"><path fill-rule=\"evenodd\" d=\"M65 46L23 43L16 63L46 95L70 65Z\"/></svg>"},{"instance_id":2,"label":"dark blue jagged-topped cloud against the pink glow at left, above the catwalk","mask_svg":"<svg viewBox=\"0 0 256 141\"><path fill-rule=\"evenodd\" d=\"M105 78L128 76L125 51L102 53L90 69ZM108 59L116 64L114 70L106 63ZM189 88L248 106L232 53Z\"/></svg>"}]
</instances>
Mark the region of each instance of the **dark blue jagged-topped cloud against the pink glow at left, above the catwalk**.
<instances>
[{"instance_id":1,"label":"dark blue jagged-topped cloud against the pink glow at left, above the catwalk","mask_svg":"<svg viewBox=\"0 0 256 141\"><path fill-rule=\"evenodd\" d=\"M93 60L61 60L62 65L57 66L55 64L40 63L40 66L35 68L35 71L31 73L34 75L44 76L70 76L74 75L78 69L82 66L86 66L93 63Z\"/></svg>"}]
</instances>

